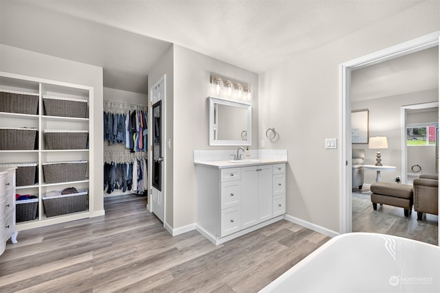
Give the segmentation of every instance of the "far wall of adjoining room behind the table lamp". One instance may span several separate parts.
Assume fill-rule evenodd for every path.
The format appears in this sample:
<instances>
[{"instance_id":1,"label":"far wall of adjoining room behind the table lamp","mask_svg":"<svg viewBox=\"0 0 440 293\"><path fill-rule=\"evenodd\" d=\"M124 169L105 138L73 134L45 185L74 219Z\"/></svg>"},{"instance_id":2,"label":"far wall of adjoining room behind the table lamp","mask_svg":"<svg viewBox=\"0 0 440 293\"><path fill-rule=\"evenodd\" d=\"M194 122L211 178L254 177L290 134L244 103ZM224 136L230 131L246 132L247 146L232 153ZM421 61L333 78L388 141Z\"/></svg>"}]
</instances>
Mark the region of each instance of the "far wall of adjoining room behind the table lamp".
<instances>
[{"instance_id":1,"label":"far wall of adjoining room behind the table lamp","mask_svg":"<svg viewBox=\"0 0 440 293\"><path fill-rule=\"evenodd\" d=\"M393 172L381 172L383 181L393 182L396 176L401 176L401 106L435 102L438 98L438 89L432 89L351 104L352 110L369 109L369 137L387 137L388 149L380 150L382 164L396 166L397 169ZM438 121L437 117L436 119ZM377 150L370 150L368 143L356 143L353 144L353 148L363 148L365 164L375 164ZM434 155L431 159L434 159ZM366 184L374 183L375 178L374 170L365 171Z\"/></svg>"}]
</instances>

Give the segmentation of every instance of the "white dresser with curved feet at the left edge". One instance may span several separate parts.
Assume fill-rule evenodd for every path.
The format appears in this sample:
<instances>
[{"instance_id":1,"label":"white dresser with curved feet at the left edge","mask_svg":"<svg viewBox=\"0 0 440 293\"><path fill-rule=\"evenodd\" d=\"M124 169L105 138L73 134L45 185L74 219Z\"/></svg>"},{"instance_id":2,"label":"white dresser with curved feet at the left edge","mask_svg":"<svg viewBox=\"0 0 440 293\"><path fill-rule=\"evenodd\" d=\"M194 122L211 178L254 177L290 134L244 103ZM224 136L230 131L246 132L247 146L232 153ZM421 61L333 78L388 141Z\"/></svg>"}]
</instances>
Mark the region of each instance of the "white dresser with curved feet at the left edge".
<instances>
[{"instance_id":1,"label":"white dresser with curved feet at the left edge","mask_svg":"<svg viewBox=\"0 0 440 293\"><path fill-rule=\"evenodd\" d=\"M0 255L11 238L17 243L15 228L15 167L0 168Z\"/></svg>"}]
</instances>

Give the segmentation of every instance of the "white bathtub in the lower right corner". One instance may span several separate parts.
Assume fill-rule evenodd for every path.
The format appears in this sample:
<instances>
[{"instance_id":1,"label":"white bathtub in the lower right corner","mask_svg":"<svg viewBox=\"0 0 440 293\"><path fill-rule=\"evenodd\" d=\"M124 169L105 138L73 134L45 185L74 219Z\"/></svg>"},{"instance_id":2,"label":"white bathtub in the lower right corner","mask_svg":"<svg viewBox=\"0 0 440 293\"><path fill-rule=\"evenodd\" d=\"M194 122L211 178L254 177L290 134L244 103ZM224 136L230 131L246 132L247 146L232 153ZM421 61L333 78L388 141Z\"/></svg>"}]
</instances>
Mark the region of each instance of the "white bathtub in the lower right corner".
<instances>
[{"instance_id":1,"label":"white bathtub in the lower right corner","mask_svg":"<svg viewBox=\"0 0 440 293\"><path fill-rule=\"evenodd\" d=\"M260 292L440 292L440 247L376 233L330 239Z\"/></svg>"}]
</instances>

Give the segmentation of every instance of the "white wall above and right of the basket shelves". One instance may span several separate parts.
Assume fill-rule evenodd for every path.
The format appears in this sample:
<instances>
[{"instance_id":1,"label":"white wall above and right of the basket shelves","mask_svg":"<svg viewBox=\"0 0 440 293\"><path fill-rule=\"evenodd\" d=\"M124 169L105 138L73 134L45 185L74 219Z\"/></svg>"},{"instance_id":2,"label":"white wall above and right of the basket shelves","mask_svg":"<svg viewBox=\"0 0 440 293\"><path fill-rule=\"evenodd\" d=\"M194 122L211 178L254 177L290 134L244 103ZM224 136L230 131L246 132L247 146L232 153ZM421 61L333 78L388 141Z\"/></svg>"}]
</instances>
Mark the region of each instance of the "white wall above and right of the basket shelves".
<instances>
[{"instance_id":1,"label":"white wall above and right of the basket shelves","mask_svg":"<svg viewBox=\"0 0 440 293\"><path fill-rule=\"evenodd\" d=\"M102 200L102 68L84 63L74 62L54 56L39 54L33 51L0 45L0 69L1 71L28 75L35 78L45 78L60 82L82 84L94 87L94 204L92 213L100 215L104 213Z\"/></svg>"}]
</instances>

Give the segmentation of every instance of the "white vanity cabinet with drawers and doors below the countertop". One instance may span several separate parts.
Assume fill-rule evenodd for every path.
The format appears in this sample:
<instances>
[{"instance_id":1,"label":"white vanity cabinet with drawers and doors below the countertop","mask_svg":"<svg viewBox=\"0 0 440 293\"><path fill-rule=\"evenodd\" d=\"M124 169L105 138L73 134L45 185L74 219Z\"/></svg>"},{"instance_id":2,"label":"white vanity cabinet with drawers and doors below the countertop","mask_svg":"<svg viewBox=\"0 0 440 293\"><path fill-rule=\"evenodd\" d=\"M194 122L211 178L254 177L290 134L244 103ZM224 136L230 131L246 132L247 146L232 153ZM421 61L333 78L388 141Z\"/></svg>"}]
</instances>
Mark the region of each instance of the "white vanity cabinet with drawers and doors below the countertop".
<instances>
[{"instance_id":1,"label":"white vanity cabinet with drawers and doors below the countertop","mask_svg":"<svg viewBox=\"0 0 440 293\"><path fill-rule=\"evenodd\" d=\"M283 213L285 163L197 165L196 228L214 244L281 220Z\"/></svg>"}]
</instances>

